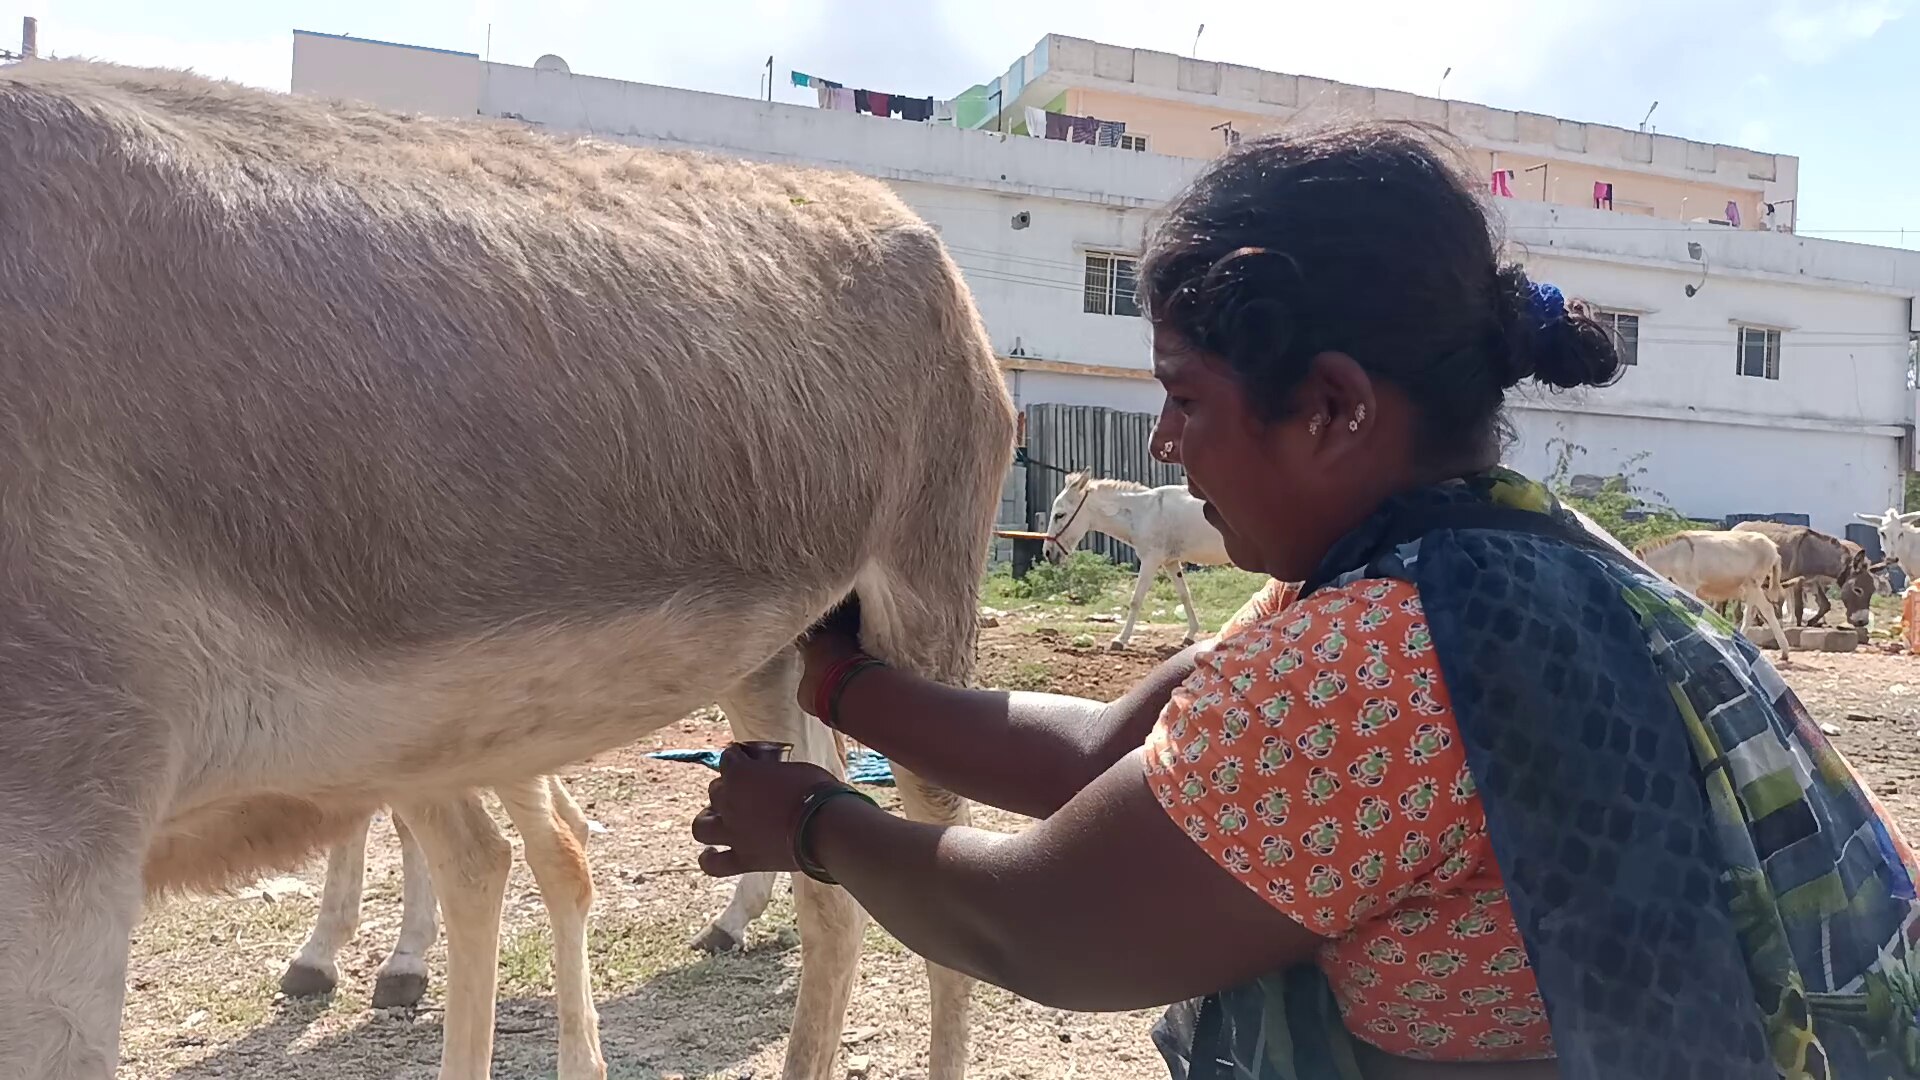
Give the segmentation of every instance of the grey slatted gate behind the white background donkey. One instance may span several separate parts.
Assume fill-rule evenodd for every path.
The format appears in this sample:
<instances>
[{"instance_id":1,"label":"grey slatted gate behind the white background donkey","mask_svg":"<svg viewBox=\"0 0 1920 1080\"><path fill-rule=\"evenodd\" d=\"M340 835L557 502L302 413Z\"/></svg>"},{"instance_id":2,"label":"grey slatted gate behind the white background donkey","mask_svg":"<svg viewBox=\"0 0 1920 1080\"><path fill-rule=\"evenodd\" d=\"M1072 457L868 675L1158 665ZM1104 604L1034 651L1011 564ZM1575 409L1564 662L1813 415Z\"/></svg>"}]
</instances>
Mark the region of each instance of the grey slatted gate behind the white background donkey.
<instances>
[{"instance_id":1,"label":"grey slatted gate behind the white background donkey","mask_svg":"<svg viewBox=\"0 0 1920 1080\"><path fill-rule=\"evenodd\" d=\"M1185 484L1187 471L1148 454L1154 436L1150 413L1123 413L1098 405L1027 405L1027 521L1046 530L1046 513L1066 486L1068 473L1092 473L1100 480L1135 480L1150 488ZM1139 567L1133 548L1104 532L1081 542L1116 563Z\"/></svg>"}]
</instances>

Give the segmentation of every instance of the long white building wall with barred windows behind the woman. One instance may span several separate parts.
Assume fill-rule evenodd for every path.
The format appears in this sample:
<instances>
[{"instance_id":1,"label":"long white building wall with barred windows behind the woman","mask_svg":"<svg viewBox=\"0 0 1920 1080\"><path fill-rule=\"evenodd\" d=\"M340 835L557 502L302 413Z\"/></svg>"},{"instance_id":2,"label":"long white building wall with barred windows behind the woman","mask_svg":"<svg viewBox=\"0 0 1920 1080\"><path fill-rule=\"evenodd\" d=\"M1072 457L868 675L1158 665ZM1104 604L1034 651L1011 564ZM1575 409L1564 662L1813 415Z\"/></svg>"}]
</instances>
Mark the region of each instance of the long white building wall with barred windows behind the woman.
<instances>
[{"instance_id":1,"label":"long white building wall with barred windows behind the woman","mask_svg":"<svg viewBox=\"0 0 1920 1080\"><path fill-rule=\"evenodd\" d=\"M1021 407L1160 409L1146 327L1127 296L1131 254L1202 160L298 31L292 86L885 179L964 267ZM1907 365L1920 252L1519 198L1498 206L1528 273L1617 313L1636 354L1613 388L1517 402L1515 467L1549 473L1565 440L1578 448L1576 471L1638 463L1682 513L1805 513L1832 532L1855 511L1901 503L1914 463ZM1114 269L1119 286L1100 286Z\"/></svg>"}]
</instances>

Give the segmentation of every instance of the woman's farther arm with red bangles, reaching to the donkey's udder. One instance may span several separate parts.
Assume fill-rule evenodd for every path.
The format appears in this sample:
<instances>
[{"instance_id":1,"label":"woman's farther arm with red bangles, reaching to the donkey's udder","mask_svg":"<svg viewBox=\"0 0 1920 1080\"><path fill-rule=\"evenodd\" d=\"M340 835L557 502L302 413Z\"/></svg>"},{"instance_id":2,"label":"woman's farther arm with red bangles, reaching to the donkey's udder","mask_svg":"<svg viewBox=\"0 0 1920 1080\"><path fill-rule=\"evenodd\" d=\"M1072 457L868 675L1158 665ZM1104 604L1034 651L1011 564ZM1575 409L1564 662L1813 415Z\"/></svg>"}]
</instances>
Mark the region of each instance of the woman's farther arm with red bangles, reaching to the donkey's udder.
<instances>
[{"instance_id":1,"label":"woman's farther arm with red bangles, reaching to the donkey's udder","mask_svg":"<svg viewBox=\"0 0 1920 1080\"><path fill-rule=\"evenodd\" d=\"M818 707L820 675L854 648L845 638L808 644L801 684L808 711ZM1114 703L962 690L876 667L847 684L833 726L954 794L1046 817L1140 746L1173 688L1192 673L1198 648L1169 657Z\"/></svg>"}]
</instances>

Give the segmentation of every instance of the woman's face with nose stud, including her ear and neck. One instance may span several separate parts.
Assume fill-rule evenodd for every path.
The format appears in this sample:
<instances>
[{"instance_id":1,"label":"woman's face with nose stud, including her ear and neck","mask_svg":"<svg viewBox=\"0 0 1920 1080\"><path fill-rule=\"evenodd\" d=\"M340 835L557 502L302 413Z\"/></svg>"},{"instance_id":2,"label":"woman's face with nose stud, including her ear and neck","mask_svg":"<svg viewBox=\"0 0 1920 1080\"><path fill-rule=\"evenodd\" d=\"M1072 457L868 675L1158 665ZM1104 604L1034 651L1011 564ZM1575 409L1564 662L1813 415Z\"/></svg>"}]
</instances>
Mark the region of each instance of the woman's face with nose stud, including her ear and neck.
<instances>
[{"instance_id":1,"label":"woman's face with nose stud, including her ear and neck","mask_svg":"<svg viewBox=\"0 0 1920 1080\"><path fill-rule=\"evenodd\" d=\"M1223 361L1165 331L1154 334L1154 377L1167 400L1152 446L1187 469L1187 490L1242 569L1309 577L1402 480L1404 459L1394 455L1404 442L1390 429L1405 411L1398 400L1380 402L1346 356L1315 357L1279 421L1261 419Z\"/></svg>"}]
</instances>

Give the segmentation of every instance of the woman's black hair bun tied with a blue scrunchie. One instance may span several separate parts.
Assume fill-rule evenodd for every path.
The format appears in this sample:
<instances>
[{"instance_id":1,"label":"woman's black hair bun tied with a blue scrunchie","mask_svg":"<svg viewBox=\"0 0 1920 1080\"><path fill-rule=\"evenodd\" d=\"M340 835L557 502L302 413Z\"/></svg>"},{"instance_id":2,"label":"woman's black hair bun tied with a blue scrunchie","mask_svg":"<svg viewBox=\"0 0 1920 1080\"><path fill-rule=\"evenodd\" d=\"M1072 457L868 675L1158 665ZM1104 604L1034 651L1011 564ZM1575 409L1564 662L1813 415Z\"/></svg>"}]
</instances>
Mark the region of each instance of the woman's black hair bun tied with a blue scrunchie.
<instances>
[{"instance_id":1,"label":"woman's black hair bun tied with a blue scrunchie","mask_svg":"<svg viewBox=\"0 0 1920 1080\"><path fill-rule=\"evenodd\" d=\"M1490 359L1503 388L1526 379L1561 390L1611 386L1624 371L1613 332L1588 306L1551 284L1534 284L1519 265L1496 271L1494 315L1503 348Z\"/></svg>"}]
</instances>

